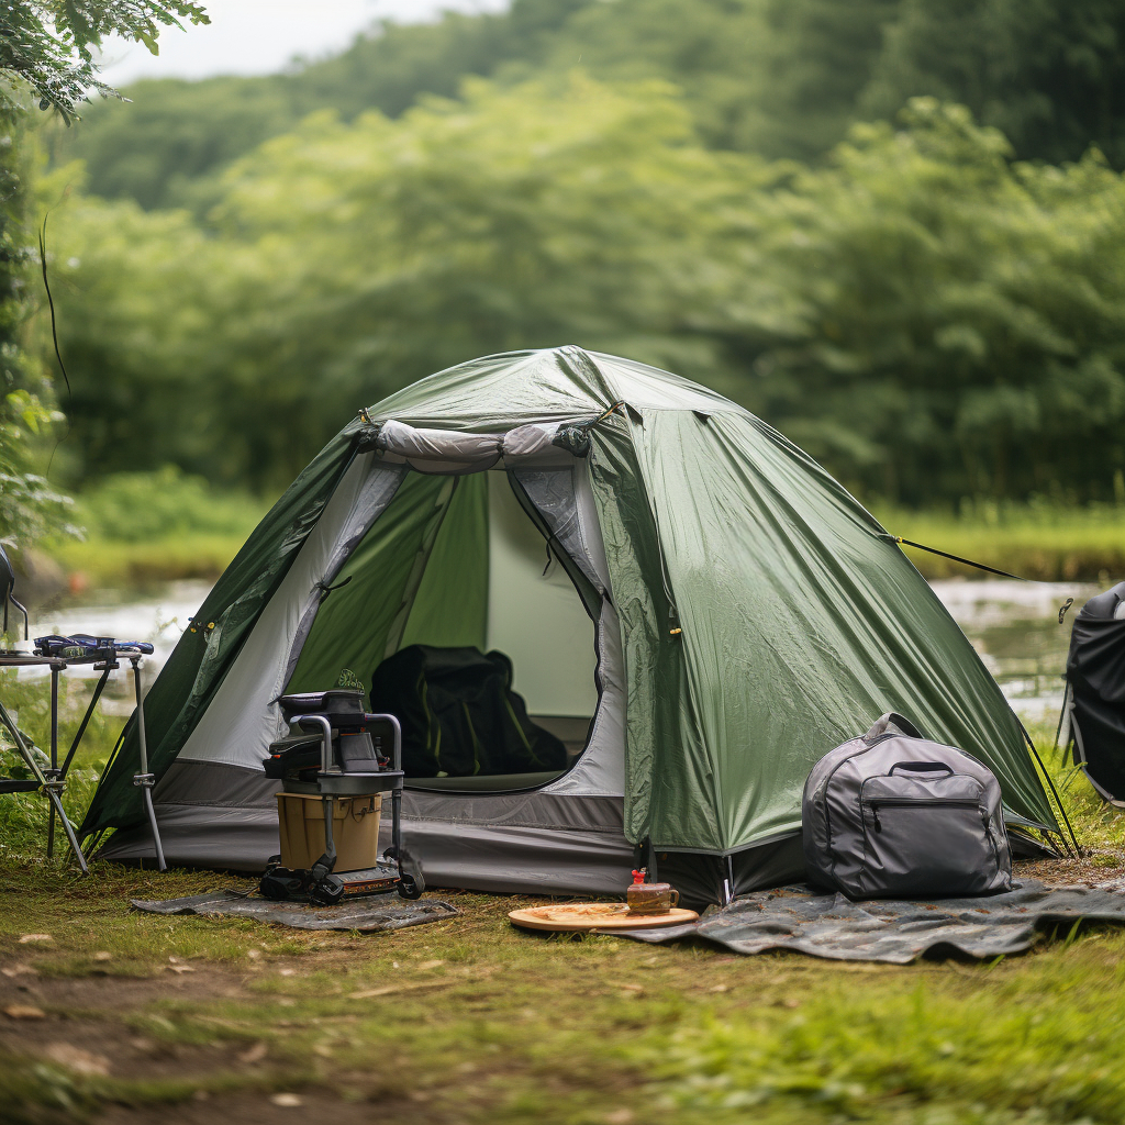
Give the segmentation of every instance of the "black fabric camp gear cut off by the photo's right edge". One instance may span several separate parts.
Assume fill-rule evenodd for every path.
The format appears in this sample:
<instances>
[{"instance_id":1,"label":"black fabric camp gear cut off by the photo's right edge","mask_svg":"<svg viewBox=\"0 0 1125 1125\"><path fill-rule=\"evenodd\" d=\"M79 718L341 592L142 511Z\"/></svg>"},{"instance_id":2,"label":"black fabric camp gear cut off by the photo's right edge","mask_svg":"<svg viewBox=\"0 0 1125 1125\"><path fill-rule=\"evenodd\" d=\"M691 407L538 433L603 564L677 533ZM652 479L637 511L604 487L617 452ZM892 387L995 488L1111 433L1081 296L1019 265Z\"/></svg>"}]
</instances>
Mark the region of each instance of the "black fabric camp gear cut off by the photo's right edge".
<instances>
[{"instance_id":1,"label":"black fabric camp gear cut off by the photo's right edge","mask_svg":"<svg viewBox=\"0 0 1125 1125\"><path fill-rule=\"evenodd\" d=\"M1125 808L1125 582L1074 619L1062 738L1106 801ZM1069 721L1069 727L1068 727Z\"/></svg>"}]
</instances>

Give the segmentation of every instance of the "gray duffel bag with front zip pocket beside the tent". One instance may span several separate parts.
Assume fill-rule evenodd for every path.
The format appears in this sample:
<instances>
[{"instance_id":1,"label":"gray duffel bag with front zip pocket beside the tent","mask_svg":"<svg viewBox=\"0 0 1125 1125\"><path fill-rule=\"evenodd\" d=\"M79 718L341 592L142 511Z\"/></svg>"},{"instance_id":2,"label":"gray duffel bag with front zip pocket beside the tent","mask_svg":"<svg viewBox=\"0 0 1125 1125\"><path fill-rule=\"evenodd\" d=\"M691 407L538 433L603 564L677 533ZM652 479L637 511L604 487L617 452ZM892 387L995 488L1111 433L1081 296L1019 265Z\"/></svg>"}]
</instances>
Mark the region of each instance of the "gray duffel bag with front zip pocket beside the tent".
<instances>
[{"instance_id":1,"label":"gray duffel bag with front zip pocket beside the tent","mask_svg":"<svg viewBox=\"0 0 1125 1125\"><path fill-rule=\"evenodd\" d=\"M810 883L849 899L1011 889L1000 785L988 766L884 714L826 754L804 783Z\"/></svg>"}]
</instances>

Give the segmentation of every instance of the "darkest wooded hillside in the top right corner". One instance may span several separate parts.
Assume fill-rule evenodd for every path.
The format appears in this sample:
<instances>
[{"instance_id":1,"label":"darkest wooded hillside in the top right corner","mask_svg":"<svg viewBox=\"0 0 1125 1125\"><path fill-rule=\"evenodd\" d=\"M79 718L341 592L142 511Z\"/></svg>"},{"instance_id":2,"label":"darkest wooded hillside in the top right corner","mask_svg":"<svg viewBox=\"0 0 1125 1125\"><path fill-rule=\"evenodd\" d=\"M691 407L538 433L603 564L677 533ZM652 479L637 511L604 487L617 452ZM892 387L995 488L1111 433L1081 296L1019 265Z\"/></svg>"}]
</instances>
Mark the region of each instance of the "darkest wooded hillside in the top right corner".
<instances>
[{"instance_id":1,"label":"darkest wooded hillside in the top right corner","mask_svg":"<svg viewBox=\"0 0 1125 1125\"><path fill-rule=\"evenodd\" d=\"M1125 168L1125 7L1118 0L904 0L860 110L957 101L1023 159Z\"/></svg>"}]
</instances>

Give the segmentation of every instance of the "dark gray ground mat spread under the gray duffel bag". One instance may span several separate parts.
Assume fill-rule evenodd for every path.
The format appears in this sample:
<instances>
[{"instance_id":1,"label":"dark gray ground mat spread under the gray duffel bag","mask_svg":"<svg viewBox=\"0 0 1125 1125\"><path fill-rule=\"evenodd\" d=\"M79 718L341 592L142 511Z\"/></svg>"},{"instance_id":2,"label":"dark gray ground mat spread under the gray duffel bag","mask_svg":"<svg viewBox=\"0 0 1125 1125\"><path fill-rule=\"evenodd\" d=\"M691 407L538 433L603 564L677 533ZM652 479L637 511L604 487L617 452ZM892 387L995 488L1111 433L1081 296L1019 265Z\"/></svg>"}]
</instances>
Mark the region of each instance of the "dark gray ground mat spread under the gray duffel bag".
<instances>
[{"instance_id":1,"label":"dark gray ground mat spread under the gray duffel bag","mask_svg":"<svg viewBox=\"0 0 1125 1125\"><path fill-rule=\"evenodd\" d=\"M1044 886L1026 880L988 898L852 902L808 886L757 891L711 908L698 922L666 929L613 930L637 942L703 938L736 953L795 950L838 961L904 965L922 954L996 957L1023 953L1045 930L1080 921L1125 925L1125 881Z\"/></svg>"}]
</instances>

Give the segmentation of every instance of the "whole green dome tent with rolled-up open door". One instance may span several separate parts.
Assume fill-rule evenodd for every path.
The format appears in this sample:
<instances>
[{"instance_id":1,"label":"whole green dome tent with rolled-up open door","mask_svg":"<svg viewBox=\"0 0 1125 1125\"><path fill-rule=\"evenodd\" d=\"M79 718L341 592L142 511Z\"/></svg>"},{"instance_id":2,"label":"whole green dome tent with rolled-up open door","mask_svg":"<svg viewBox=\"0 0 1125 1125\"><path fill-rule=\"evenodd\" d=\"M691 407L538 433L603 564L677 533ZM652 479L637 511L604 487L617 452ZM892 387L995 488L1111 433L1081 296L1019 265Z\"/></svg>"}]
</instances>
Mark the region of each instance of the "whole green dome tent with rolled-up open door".
<instances>
[{"instance_id":1,"label":"whole green dome tent with rolled-up open door","mask_svg":"<svg viewBox=\"0 0 1125 1125\"><path fill-rule=\"evenodd\" d=\"M1058 831L1018 720L883 528L747 411L629 360L476 360L322 450L147 695L169 861L261 870L273 701L414 644L505 651L568 747L561 771L407 782L431 885L619 892L634 847L695 898L800 878L810 767L886 711ZM130 722L83 824L117 829L110 858L154 854L136 759Z\"/></svg>"}]
</instances>

